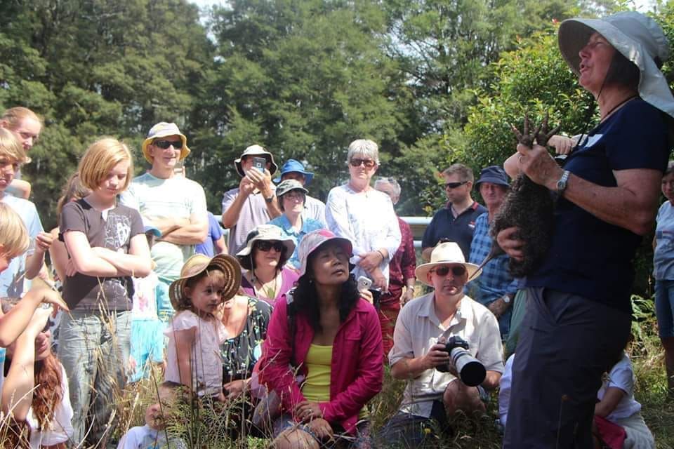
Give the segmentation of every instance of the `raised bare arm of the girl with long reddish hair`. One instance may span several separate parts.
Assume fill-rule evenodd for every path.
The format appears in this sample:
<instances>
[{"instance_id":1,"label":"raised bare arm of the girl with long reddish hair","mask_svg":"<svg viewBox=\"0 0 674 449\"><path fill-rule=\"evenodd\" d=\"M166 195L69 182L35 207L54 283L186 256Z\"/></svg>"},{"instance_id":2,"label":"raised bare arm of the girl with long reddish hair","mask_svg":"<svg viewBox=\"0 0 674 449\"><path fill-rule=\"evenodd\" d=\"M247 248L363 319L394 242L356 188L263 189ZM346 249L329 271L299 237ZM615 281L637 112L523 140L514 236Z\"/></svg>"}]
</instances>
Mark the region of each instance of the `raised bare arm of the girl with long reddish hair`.
<instances>
[{"instance_id":1,"label":"raised bare arm of the girl with long reddish hair","mask_svg":"<svg viewBox=\"0 0 674 449\"><path fill-rule=\"evenodd\" d=\"M17 306L14 307L16 309ZM12 310L14 310L12 309ZM2 412L12 413L16 421L25 421L32 405L35 386L35 339L47 323L53 309L37 309L30 317L27 328L18 337L11 366L2 384Z\"/></svg>"}]
</instances>

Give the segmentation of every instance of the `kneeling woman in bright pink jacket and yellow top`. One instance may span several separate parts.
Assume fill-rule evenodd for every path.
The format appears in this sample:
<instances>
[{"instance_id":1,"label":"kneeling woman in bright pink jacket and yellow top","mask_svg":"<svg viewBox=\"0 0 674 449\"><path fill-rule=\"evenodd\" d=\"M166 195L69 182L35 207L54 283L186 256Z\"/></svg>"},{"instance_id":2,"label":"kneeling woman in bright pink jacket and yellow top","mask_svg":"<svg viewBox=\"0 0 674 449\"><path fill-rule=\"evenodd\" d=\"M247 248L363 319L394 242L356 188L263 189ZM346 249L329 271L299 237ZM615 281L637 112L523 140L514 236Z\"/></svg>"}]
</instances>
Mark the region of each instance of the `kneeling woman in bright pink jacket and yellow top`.
<instances>
[{"instance_id":1,"label":"kneeling woman in bright pink jacket and yellow top","mask_svg":"<svg viewBox=\"0 0 674 449\"><path fill-rule=\"evenodd\" d=\"M298 286L272 314L260 379L281 396L277 449L365 443L365 406L381 391L383 350L377 312L350 274L351 250L327 229L307 234Z\"/></svg>"}]
</instances>

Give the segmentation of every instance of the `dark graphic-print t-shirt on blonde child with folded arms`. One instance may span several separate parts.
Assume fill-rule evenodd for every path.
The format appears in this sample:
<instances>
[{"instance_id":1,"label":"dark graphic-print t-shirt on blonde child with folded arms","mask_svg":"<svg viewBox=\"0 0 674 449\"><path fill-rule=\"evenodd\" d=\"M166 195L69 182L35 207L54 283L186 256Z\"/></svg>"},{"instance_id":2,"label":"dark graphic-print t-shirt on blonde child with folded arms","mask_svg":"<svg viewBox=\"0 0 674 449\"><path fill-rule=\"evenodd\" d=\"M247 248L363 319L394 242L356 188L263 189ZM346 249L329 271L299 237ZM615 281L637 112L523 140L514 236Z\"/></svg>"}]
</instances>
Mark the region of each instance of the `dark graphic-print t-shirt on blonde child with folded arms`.
<instances>
[{"instance_id":1,"label":"dark graphic-print t-shirt on blonde child with folded arms","mask_svg":"<svg viewBox=\"0 0 674 449\"><path fill-rule=\"evenodd\" d=\"M133 236L143 234L143 221L138 210L116 206L107 213L96 210L84 199L63 207L59 239L67 231L86 235L89 245L128 253ZM77 273L63 281L63 299L70 309L98 310L99 304L109 311L130 309L133 283L130 276L96 277Z\"/></svg>"}]
</instances>

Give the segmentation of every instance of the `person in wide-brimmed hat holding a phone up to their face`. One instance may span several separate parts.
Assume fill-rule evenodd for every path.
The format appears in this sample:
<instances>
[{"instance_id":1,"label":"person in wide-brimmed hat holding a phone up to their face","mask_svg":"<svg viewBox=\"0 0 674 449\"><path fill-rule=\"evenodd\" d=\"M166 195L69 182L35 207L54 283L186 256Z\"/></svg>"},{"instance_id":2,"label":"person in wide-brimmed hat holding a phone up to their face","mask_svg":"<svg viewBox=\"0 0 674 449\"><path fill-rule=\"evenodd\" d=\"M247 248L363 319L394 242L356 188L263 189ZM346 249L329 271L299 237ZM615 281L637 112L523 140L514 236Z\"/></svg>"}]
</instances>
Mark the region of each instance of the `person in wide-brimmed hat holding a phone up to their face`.
<instances>
[{"instance_id":1,"label":"person in wide-brimmed hat holding a phone up to their face","mask_svg":"<svg viewBox=\"0 0 674 449\"><path fill-rule=\"evenodd\" d=\"M274 156L260 145L251 145L234 159L234 167L241 182L223 195L223 227L230 229L227 248L231 255L241 250L253 228L281 215L272 183L278 168Z\"/></svg>"}]
</instances>

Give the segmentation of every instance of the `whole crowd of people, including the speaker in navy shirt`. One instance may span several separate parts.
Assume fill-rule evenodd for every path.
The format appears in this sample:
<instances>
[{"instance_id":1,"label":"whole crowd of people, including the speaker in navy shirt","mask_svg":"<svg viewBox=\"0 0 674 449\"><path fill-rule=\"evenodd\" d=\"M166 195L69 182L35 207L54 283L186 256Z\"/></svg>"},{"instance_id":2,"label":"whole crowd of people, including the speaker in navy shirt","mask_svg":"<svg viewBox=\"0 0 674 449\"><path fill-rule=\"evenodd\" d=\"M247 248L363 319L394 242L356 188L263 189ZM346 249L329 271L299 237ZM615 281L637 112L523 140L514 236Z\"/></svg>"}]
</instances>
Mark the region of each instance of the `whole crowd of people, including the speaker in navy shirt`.
<instances>
[{"instance_id":1,"label":"whole crowd of people, including the speaker in navy shirt","mask_svg":"<svg viewBox=\"0 0 674 449\"><path fill-rule=\"evenodd\" d=\"M654 448L625 349L632 260L656 220L656 311L674 396L674 97L659 69L668 42L633 12L565 20L559 42L600 123L553 136L562 166L536 142L477 180L461 163L442 171L447 203L425 229L421 264L395 213L401 185L376 176L379 148L367 139L348 146L348 181L325 203L309 196L314 174L303 163L279 170L272 152L247 147L220 227L186 176L190 148L175 123L150 128L141 147L150 168L137 177L131 149L100 138L63 187L58 227L45 232L20 177L43 123L8 109L4 446L114 444L116 395L150 378L157 403L119 448L183 447L183 436L161 431L162 409L176 401L236 403L224 429L232 438L369 448L449 436L456 413L479 416L496 400L504 448ZM508 264L535 242L517 227L490 233L521 175L555 199L550 250L526 278ZM406 383L375 432L368 405L386 364Z\"/></svg>"}]
</instances>

